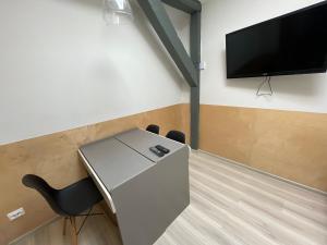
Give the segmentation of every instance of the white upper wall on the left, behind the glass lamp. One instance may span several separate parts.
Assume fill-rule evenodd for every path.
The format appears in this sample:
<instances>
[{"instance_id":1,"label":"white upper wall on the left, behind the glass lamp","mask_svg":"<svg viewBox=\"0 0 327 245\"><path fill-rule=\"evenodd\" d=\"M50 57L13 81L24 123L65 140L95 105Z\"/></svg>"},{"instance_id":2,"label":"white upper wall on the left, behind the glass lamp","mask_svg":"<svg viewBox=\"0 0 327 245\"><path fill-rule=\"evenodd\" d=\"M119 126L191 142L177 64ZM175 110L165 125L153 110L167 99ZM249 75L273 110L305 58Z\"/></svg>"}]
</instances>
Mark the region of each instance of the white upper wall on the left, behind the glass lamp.
<instances>
[{"instance_id":1,"label":"white upper wall on the left, behind the glass lamp","mask_svg":"<svg viewBox=\"0 0 327 245\"><path fill-rule=\"evenodd\" d=\"M106 26L101 2L0 1L0 145L180 102L184 81L140 7Z\"/></svg>"}]
</instances>

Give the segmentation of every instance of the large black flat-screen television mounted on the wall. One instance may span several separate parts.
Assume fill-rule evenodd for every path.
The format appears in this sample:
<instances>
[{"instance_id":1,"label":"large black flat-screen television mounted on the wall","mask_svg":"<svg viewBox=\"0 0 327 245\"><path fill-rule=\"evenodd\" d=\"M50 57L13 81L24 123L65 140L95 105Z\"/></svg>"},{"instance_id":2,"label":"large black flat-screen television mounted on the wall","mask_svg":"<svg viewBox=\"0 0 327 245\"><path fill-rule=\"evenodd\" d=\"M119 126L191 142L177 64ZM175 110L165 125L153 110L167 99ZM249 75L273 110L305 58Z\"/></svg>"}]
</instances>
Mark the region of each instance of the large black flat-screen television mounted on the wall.
<instances>
[{"instance_id":1,"label":"large black flat-screen television mounted on the wall","mask_svg":"<svg viewBox=\"0 0 327 245\"><path fill-rule=\"evenodd\" d=\"M327 1L226 35L227 78L322 73Z\"/></svg>"}]
</instances>

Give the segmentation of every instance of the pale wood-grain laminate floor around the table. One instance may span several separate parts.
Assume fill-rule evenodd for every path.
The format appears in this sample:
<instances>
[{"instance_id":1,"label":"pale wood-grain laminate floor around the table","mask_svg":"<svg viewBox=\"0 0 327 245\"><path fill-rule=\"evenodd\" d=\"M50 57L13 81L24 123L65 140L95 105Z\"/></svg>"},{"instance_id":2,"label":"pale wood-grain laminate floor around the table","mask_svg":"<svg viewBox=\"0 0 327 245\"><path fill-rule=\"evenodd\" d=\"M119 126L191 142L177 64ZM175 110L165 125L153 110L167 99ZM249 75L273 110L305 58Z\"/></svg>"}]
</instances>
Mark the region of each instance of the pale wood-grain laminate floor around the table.
<instances>
[{"instance_id":1,"label":"pale wood-grain laminate floor around the table","mask_svg":"<svg viewBox=\"0 0 327 245\"><path fill-rule=\"evenodd\" d=\"M203 152L190 159L191 205L155 245L327 245L327 197ZM68 233L69 234L69 233ZM58 220L15 245L69 245ZM80 245L121 245L105 217Z\"/></svg>"}]
</instances>

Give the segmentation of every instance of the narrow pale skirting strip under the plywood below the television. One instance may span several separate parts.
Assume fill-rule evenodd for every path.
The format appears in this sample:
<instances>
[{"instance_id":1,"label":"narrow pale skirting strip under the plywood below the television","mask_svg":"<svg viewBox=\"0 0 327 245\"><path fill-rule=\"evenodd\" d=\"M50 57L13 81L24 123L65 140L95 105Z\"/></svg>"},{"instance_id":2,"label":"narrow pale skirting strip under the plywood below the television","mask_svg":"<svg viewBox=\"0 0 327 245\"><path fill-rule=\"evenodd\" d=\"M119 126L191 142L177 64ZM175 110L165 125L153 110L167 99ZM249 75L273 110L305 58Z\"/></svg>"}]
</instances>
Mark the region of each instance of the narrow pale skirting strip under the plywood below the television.
<instances>
[{"instance_id":1,"label":"narrow pale skirting strip under the plywood below the television","mask_svg":"<svg viewBox=\"0 0 327 245\"><path fill-rule=\"evenodd\" d=\"M252 170L252 171L255 171L257 173L262 173L262 174L265 174L265 175L268 175L272 179L276 179L276 180L279 180L279 181L282 181L282 182L286 182L288 184L292 184L299 188L304 188L306 191L311 191L311 192L314 192L314 193L317 193L317 194L322 194L324 196L327 196L327 193L324 192L324 191L320 191L320 189L317 189L317 188L314 188L314 187L310 187L307 185L304 185L304 184L300 184L295 181L291 181L291 180L288 180L288 179L284 179L284 177L281 177L281 176L278 176L278 175L275 175L272 173L268 173L268 172L265 172L265 171L262 171L262 170L258 170L258 169L255 169L253 167L250 167L250 166L246 166L245 163L241 163L241 162L238 162L238 161L234 161L234 160L231 160L231 159L228 159L228 158L223 158L223 157L220 157L218 155L215 155L215 154L211 154L211 152L208 152L208 151L205 151L205 150L202 150L202 149L198 149L198 150L194 150L194 151L198 151L198 152L203 152L203 154L207 154L211 157L216 157L218 159L221 159L228 163L231 163L231 164L235 164L235 166L239 166L239 167L243 167L245 169L249 169L249 170Z\"/></svg>"}]
</instances>

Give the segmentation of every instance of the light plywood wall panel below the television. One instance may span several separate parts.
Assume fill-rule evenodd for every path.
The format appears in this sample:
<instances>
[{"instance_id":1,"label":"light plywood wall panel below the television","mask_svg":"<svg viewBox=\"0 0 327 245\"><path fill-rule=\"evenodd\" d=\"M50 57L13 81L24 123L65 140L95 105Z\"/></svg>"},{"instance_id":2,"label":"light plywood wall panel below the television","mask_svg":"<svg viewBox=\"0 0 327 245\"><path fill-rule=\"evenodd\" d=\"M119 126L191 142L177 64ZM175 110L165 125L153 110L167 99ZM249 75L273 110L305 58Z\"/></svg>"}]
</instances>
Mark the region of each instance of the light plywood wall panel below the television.
<instances>
[{"instance_id":1,"label":"light plywood wall panel below the television","mask_svg":"<svg viewBox=\"0 0 327 245\"><path fill-rule=\"evenodd\" d=\"M199 131L202 150L327 192L327 114L202 105Z\"/></svg>"}]
</instances>

